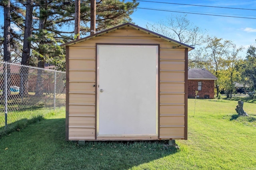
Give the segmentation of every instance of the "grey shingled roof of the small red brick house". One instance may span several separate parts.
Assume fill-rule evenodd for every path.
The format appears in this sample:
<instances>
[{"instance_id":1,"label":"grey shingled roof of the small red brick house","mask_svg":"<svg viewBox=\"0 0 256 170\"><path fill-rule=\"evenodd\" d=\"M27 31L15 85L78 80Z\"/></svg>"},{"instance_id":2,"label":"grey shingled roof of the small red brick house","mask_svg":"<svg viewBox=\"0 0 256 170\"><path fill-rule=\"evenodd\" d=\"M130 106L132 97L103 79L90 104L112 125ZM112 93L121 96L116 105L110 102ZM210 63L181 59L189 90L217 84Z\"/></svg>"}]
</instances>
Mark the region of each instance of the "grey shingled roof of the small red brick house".
<instances>
[{"instance_id":1,"label":"grey shingled roof of the small red brick house","mask_svg":"<svg viewBox=\"0 0 256 170\"><path fill-rule=\"evenodd\" d=\"M190 68L188 80L218 80L218 78L204 68Z\"/></svg>"}]
</instances>

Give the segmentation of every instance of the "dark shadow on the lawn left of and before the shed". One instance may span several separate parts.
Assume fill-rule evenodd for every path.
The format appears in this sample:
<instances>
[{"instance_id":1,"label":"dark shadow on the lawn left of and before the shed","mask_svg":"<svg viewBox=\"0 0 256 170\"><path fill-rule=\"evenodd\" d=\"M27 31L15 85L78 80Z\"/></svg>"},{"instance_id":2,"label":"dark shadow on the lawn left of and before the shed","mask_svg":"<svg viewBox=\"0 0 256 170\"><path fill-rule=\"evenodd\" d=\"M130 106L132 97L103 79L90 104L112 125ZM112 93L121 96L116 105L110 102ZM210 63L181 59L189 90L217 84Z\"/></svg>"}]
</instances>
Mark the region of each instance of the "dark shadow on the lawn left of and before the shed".
<instances>
[{"instance_id":1,"label":"dark shadow on the lawn left of and before the shed","mask_svg":"<svg viewBox=\"0 0 256 170\"><path fill-rule=\"evenodd\" d=\"M11 159L4 167L10 169L20 162L24 167L19 168L24 169L128 169L179 152L166 146L166 141L86 141L78 145L65 141L65 119L42 119L0 140L12 146L4 152ZM14 158L14 152L22 157Z\"/></svg>"}]
</instances>

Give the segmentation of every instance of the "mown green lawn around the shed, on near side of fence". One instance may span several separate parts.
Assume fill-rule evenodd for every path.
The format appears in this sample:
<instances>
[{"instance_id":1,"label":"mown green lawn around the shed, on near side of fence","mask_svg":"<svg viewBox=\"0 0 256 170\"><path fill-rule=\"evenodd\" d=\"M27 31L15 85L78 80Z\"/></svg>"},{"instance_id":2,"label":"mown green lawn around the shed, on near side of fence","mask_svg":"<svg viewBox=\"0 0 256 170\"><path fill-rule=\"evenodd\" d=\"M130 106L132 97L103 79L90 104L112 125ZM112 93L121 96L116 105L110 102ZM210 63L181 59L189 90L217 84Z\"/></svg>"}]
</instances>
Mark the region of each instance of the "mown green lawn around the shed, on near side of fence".
<instances>
[{"instance_id":1,"label":"mown green lawn around the shed, on near side of fence","mask_svg":"<svg viewBox=\"0 0 256 170\"><path fill-rule=\"evenodd\" d=\"M64 109L0 138L0 169L249 169L256 170L256 104L237 117L237 102L188 100L188 140L179 149L163 141L64 140Z\"/></svg>"}]
</instances>

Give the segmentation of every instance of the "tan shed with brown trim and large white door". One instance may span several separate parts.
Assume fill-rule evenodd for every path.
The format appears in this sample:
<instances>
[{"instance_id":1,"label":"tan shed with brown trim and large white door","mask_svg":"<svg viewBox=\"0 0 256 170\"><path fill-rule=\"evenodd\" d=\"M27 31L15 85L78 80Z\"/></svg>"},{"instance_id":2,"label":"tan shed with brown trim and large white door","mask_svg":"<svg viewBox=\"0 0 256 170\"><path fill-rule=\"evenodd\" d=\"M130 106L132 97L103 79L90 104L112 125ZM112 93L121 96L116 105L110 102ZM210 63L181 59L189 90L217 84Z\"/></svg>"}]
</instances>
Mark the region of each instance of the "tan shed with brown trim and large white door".
<instances>
[{"instance_id":1,"label":"tan shed with brown trim and large white door","mask_svg":"<svg viewBox=\"0 0 256 170\"><path fill-rule=\"evenodd\" d=\"M187 139L188 45L131 23L66 46L66 140Z\"/></svg>"}]
</instances>

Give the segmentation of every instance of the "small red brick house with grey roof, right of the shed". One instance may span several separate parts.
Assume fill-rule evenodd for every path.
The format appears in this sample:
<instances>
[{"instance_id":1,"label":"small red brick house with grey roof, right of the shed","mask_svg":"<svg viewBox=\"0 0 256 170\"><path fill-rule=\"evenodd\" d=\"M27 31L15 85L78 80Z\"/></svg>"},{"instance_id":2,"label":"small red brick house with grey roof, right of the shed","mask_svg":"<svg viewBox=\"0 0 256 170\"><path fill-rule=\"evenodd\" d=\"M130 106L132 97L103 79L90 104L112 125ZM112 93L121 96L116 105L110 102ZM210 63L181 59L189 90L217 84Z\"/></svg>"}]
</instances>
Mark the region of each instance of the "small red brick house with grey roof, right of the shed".
<instances>
[{"instance_id":1,"label":"small red brick house with grey roof, right of the shed","mask_svg":"<svg viewBox=\"0 0 256 170\"><path fill-rule=\"evenodd\" d=\"M188 69L188 98L214 98L214 80L218 78L204 68Z\"/></svg>"}]
</instances>

